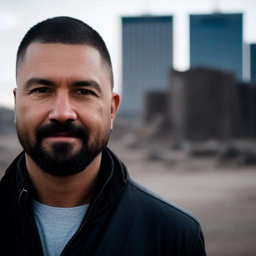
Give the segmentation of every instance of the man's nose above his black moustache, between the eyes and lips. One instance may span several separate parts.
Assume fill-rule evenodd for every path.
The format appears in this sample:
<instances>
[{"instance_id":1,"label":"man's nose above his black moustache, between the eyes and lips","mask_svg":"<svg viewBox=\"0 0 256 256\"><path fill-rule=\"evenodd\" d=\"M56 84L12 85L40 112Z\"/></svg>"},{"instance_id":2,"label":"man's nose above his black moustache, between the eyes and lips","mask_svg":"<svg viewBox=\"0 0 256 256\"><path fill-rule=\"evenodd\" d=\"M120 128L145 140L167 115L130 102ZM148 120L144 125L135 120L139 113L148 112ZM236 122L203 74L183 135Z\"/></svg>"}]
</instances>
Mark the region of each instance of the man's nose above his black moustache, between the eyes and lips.
<instances>
[{"instance_id":1,"label":"man's nose above his black moustache, between the eyes and lips","mask_svg":"<svg viewBox=\"0 0 256 256\"><path fill-rule=\"evenodd\" d=\"M70 104L68 95L65 93L58 93L53 100L52 109L48 115L48 118L51 121L70 122L76 120L76 112Z\"/></svg>"}]
</instances>

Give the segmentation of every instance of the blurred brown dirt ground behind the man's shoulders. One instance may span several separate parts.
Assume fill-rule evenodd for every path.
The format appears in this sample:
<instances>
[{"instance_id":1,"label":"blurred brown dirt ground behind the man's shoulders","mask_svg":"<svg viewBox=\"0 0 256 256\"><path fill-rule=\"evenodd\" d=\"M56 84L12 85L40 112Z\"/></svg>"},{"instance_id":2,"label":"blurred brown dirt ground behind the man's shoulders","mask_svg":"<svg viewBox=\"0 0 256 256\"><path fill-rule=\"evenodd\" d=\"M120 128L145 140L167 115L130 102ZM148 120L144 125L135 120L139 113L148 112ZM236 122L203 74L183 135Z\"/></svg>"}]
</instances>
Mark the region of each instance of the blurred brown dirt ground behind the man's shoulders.
<instances>
[{"instance_id":1,"label":"blurred brown dirt ground behind the man's shoulders","mask_svg":"<svg viewBox=\"0 0 256 256\"><path fill-rule=\"evenodd\" d=\"M196 214L208 256L256 255L256 165L216 167L212 157L150 160L148 148L128 148L118 139L109 147L130 176L152 191ZM0 136L0 176L20 151L13 135Z\"/></svg>"}]
</instances>

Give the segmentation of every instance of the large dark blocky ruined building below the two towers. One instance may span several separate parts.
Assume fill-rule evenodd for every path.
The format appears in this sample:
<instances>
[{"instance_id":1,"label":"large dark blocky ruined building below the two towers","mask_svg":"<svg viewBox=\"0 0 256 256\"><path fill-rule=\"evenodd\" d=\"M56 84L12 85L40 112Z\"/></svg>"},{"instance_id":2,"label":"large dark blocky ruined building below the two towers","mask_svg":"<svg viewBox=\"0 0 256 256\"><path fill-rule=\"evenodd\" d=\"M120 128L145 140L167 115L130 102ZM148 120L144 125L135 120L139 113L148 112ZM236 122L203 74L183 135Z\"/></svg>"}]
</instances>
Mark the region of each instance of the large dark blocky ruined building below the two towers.
<instances>
[{"instance_id":1,"label":"large dark blocky ruined building below the two towers","mask_svg":"<svg viewBox=\"0 0 256 256\"><path fill-rule=\"evenodd\" d=\"M170 72L168 113L174 144L231 138L233 112L238 105L233 73L212 68Z\"/></svg>"}]
</instances>

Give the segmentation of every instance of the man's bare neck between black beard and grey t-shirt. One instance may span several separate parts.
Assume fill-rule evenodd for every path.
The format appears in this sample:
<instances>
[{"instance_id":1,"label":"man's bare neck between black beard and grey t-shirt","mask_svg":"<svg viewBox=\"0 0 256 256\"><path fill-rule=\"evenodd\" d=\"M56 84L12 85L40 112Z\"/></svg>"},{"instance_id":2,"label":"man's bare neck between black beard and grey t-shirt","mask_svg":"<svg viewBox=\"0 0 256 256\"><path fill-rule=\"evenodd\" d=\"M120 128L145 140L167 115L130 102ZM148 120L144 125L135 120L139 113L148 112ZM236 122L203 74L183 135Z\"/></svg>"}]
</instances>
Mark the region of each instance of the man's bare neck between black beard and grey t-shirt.
<instances>
[{"instance_id":1,"label":"man's bare neck between black beard and grey t-shirt","mask_svg":"<svg viewBox=\"0 0 256 256\"><path fill-rule=\"evenodd\" d=\"M25 156L27 172L34 188L34 199L54 207L75 207L89 203L101 153L83 171L69 176L51 175L40 169L27 153Z\"/></svg>"}]
</instances>

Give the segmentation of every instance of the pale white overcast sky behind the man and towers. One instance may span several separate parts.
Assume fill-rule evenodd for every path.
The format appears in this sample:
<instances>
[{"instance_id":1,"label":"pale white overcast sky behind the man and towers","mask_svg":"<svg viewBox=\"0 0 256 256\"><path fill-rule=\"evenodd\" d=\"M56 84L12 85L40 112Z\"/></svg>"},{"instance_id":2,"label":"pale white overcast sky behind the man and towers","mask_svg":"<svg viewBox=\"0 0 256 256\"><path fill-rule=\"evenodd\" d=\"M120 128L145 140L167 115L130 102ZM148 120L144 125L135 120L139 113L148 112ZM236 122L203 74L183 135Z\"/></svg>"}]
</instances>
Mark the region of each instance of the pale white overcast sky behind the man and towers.
<instances>
[{"instance_id":1,"label":"pale white overcast sky behind the man and towers","mask_svg":"<svg viewBox=\"0 0 256 256\"><path fill-rule=\"evenodd\" d=\"M38 21L59 15L79 18L103 37L121 93L121 16L173 15L173 66L189 68L189 14L242 12L243 39L256 42L256 0L0 0L0 105L13 107L15 54L24 33Z\"/></svg>"}]
</instances>

